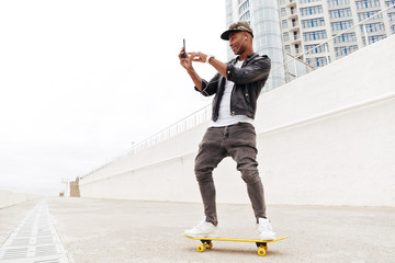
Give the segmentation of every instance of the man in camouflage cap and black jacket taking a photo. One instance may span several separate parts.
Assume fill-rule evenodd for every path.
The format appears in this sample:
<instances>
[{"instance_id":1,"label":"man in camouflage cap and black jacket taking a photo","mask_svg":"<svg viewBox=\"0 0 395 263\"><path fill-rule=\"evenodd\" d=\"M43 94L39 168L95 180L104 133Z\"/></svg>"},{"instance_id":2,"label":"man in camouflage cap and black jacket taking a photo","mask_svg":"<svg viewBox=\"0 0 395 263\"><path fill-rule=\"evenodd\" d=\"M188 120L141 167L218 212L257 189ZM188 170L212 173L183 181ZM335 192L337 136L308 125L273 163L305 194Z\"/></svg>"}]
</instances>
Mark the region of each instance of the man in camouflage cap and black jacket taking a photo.
<instances>
[{"instance_id":1,"label":"man in camouflage cap and black jacket taking a photo","mask_svg":"<svg viewBox=\"0 0 395 263\"><path fill-rule=\"evenodd\" d=\"M213 170L225 158L237 162L237 170L247 184L248 196L257 218L261 240L275 239L266 217L263 185L258 172L253 118L257 99L270 72L270 58L253 53L253 33L247 22L237 22L221 35L238 55L228 64L203 53L179 54L195 90L204 96L214 95L211 127L206 130L195 159L195 175L204 205L205 218L185 235L195 238L217 237L217 214ZM206 62L218 72L207 82L199 77L193 62Z\"/></svg>"}]
</instances>

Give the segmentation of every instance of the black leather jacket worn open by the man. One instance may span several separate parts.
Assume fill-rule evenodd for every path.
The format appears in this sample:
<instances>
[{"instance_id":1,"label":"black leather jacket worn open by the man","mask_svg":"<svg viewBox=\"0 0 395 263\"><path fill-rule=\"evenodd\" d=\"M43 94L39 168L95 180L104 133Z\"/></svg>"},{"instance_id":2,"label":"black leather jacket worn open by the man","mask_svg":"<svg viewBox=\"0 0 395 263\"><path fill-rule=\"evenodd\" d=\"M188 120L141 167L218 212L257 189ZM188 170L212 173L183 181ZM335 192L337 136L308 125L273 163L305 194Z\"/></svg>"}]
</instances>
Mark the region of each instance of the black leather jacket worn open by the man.
<instances>
[{"instance_id":1,"label":"black leather jacket worn open by the man","mask_svg":"<svg viewBox=\"0 0 395 263\"><path fill-rule=\"evenodd\" d=\"M257 100L262 90L269 73L270 58L257 53L248 55L241 68L235 67L238 57L227 64L226 79L235 82L230 96L230 115L246 115L255 118L257 112ZM213 99L212 119L218 119L219 103L225 90L226 79L216 73L210 82L202 80L202 91L204 96L215 94ZM195 87L195 90L198 88Z\"/></svg>"}]
</instances>

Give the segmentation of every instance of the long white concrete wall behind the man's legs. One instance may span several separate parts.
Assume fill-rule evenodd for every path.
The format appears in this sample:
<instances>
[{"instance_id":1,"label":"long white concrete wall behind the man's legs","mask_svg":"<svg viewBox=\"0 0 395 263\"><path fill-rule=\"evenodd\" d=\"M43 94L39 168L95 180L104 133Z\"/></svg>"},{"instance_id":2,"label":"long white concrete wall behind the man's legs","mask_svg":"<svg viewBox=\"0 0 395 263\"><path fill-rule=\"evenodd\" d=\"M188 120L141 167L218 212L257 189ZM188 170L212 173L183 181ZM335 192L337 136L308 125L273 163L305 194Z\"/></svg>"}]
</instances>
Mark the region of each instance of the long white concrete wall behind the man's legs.
<instances>
[{"instance_id":1,"label":"long white concrete wall behind the man's legs","mask_svg":"<svg viewBox=\"0 0 395 263\"><path fill-rule=\"evenodd\" d=\"M395 206L395 36L260 96L256 119L268 204ZM200 202L193 175L208 123L80 181L81 196ZM236 164L217 201L249 203Z\"/></svg>"}]
</instances>

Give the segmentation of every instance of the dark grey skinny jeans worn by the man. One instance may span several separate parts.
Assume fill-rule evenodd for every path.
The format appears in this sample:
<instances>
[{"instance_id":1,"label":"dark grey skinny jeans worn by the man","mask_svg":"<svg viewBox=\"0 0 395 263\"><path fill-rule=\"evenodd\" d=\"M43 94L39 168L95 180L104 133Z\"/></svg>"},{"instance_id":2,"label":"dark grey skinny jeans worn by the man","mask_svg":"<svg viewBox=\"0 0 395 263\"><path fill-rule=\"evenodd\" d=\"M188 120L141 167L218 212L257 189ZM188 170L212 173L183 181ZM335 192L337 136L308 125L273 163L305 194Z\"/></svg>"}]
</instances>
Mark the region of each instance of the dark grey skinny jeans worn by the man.
<instances>
[{"instance_id":1,"label":"dark grey skinny jeans worn by the man","mask_svg":"<svg viewBox=\"0 0 395 263\"><path fill-rule=\"evenodd\" d=\"M266 218L262 181L259 178L256 132L251 124L238 123L225 127L210 127L195 158L195 175L204 205L206 221L218 224L213 170L225 157L232 157L247 184L248 196L257 219Z\"/></svg>"}]
</instances>

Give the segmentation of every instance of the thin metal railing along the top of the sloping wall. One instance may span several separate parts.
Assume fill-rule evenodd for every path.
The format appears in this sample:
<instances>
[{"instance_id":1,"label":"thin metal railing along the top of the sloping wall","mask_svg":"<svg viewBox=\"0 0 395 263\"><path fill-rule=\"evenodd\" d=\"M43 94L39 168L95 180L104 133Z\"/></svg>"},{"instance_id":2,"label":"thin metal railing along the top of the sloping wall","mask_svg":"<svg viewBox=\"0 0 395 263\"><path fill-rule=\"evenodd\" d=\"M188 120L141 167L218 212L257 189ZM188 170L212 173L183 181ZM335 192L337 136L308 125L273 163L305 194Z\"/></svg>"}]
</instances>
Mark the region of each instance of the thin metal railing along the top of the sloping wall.
<instances>
[{"instance_id":1,"label":"thin metal railing along the top of the sloping wall","mask_svg":"<svg viewBox=\"0 0 395 263\"><path fill-rule=\"evenodd\" d=\"M292 2L292 1L291 1L291 2ZM348 33L348 32L350 32L350 31L352 31L352 30L354 30L354 28L358 27L358 26L361 26L361 25L365 24L368 21L373 20L374 18L376 18L377 15L381 15L382 13L388 11L390 9L395 9L395 4L392 4L392 5L387 7L386 9L382 10L381 12L377 12L377 13L373 14L373 15L370 16L369 19L365 19L365 20L357 23L356 25L353 25L353 26L351 26L351 27L349 27L349 28L340 32L339 34L337 34L337 35L335 35L335 36L326 39L325 42L323 42L323 43L314 46L313 48L311 48L311 49L308 49L308 50L305 50L305 52L303 52L303 53L301 53L301 54L297 54L297 55L292 56L292 58L291 58L290 60L287 60L286 62L282 64L281 66L279 66L279 67L276 67L276 68L273 68L273 69L271 70L271 72L276 71L276 70L281 70L281 69L283 69L283 68L286 68L290 62L294 62L294 65L295 65L296 62L300 62L301 65L303 65L303 66L305 66L305 67L307 68L307 70L306 70L304 73L302 73L302 75L301 75L301 73L297 73L297 72L291 73L291 76L294 77L293 79L296 79L296 78L298 78L298 77L301 77L301 76L303 76L303 75L306 75L306 73L313 71L315 68L312 67L312 66L309 66L309 65L307 65L305 61L303 61L303 60L301 59L303 56L312 53L315 48L318 48L318 47L320 47L320 46L324 46L324 45L326 45L326 44L329 44L329 42L336 39L337 37L343 35L343 34L346 34L346 33ZM366 32L364 32L364 34L365 34L365 46L368 46L368 45L370 44L370 43L369 43L369 37L368 37ZM393 33L393 34L394 34L394 33ZM368 41L368 43L366 43L366 41ZM326 48L327 48L327 47L325 47L326 57L328 58L327 49L326 49ZM362 48L363 48L363 47L362 47ZM330 62L334 61L334 60L336 60L336 59L327 59L327 61L328 61L327 64L330 64ZM295 67L295 70L296 70L296 66L294 66L294 67ZM287 71L287 70L285 70L285 71ZM293 79L289 79L289 78L286 78L286 79L287 79L287 81L292 81L292 80L293 80ZM149 148L149 147L153 147L153 146L155 146L155 145L157 145L157 144L159 144L159 142L161 142L161 141L168 140L168 139L170 139L170 138L172 138L172 137L174 137L174 136L177 136L177 135L179 135L179 134L181 134L181 133L184 133L184 132L187 132L187 130L189 130L189 129L191 129L191 128L193 128L193 127L196 127L196 126L200 125L200 124L203 124L203 123L205 123L205 122L208 122L210 118L211 118L211 112L212 112L212 107L211 107L211 104L208 104L208 105L204 106L203 108L201 108L201 110L199 110L199 111L196 111L196 112L188 115L187 117L180 119L180 121L177 122L176 124L170 125L169 127L160 130L159 133L157 133L157 134L148 137L147 139L143 140L143 141L136 144L136 145L133 145L131 149L125 150L125 151L123 151L123 152L120 152L119 155L116 155L116 157L108 160L103 165L100 165L100 167L98 167L98 168L95 168L95 169L92 169L91 172L89 172L88 174L86 174L86 175L83 175L83 176L81 176L81 178L88 176L88 175L90 175L90 174L92 174L92 173L94 173L94 172L97 172L97 171L99 171L99 170L101 170L101 169L103 169L103 168L112 164L112 163L115 162L115 161L119 161L119 160L121 160L121 159L123 159L123 158L126 158L126 157L131 157L131 156L133 156L133 155L135 155L135 153L137 153L137 152L139 152L139 151L142 151L142 150L144 150L144 149L147 149L147 148Z\"/></svg>"}]
</instances>

